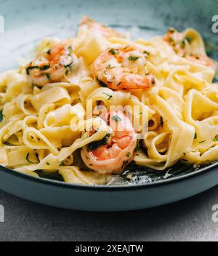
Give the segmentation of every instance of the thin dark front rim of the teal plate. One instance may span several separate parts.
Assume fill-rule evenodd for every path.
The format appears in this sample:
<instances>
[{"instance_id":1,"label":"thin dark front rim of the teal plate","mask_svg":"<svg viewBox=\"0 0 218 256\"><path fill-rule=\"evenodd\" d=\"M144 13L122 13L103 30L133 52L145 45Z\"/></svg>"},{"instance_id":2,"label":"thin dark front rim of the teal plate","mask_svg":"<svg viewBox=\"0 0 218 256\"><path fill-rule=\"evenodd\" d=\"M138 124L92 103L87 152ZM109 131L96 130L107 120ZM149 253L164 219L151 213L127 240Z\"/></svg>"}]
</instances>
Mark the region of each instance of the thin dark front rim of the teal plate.
<instances>
[{"instance_id":1,"label":"thin dark front rim of the teal plate","mask_svg":"<svg viewBox=\"0 0 218 256\"><path fill-rule=\"evenodd\" d=\"M129 185L82 185L82 184L65 183L59 180L50 180L48 178L34 177L22 172L18 172L15 169L9 169L7 167L3 167L2 165L0 165L1 172L4 172L7 175L13 175L15 177L17 176L17 177L23 178L24 180L31 180L32 182L36 182L36 183L43 183L44 185L50 185L55 187L68 188L68 189L78 189L78 190L84 190L84 191L99 191L99 190L100 191L129 191L129 190L140 190L145 188L158 187L161 185L178 183L182 180L187 180L198 175L203 175L206 172L213 171L214 169L218 169L218 162L214 162L213 164L207 165L202 169L198 169L197 171L193 171L185 175L171 177L166 180L158 180L158 181L154 181L153 183L129 184Z\"/></svg>"}]
</instances>

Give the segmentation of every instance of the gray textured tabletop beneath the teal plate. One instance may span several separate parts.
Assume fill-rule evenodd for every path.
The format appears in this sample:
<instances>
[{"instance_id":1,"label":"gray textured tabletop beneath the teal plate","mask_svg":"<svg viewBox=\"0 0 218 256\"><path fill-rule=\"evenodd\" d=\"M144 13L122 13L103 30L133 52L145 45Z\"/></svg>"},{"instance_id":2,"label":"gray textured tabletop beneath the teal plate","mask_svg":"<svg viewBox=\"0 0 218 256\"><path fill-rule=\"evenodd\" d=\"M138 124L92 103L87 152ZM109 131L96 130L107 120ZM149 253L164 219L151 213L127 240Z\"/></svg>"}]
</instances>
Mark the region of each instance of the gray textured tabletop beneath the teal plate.
<instances>
[{"instance_id":1,"label":"gray textured tabletop beneath the teal plate","mask_svg":"<svg viewBox=\"0 0 218 256\"><path fill-rule=\"evenodd\" d=\"M193 198L135 212L76 212L0 191L0 241L218 241L211 220L218 186Z\"/></svg>"}]
</instances>

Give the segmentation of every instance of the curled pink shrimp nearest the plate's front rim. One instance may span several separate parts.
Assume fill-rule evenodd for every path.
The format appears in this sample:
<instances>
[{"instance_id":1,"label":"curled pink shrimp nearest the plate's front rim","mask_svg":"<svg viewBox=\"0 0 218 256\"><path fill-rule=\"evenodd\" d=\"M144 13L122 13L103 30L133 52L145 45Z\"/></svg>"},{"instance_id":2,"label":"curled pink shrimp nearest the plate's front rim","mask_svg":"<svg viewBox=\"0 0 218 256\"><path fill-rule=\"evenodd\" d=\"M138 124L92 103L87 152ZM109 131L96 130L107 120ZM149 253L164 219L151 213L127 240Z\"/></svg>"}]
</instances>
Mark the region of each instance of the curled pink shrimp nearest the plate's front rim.
<instances>
[{"instance_id":1,"label":"curled pink shrimp nearest the plate's front rim","mask_svg":"<svg viewBox=\"0 0 218 256\"><path fill-rule=\"evenodd\" d=\"M118 173L134 158L137 135L132 122L121 111L107 113L105 120L113 132L82 148L81 157L86 166L96 172Z\"/></svg>"}]
</instances>

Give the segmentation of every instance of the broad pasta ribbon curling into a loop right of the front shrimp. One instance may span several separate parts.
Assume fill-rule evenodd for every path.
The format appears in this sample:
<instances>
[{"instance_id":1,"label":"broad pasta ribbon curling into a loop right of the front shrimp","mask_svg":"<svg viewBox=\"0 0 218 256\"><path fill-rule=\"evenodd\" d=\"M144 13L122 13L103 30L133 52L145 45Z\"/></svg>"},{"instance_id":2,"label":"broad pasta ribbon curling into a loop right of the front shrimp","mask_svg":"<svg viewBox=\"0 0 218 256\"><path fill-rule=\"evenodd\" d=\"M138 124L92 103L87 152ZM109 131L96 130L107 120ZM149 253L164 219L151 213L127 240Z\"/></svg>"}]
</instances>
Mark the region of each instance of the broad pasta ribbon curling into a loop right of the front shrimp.
<instances>
[{"instance_id":1,"label":"broad pasta ribbon curling into a loop right of the front shrimp","mask_svg":"<svg viewBox=\"0 0 218 256\"><path fill-rule=\"evenodd\" d=\"M164 125L169 129L170 140L168 151L162 157L158 153L160 151L156 149L157 141L163 140L163 137L166 136L166 133L164 133L160 137L153 139L150 146L148 145L149 158L142 153L139 156L135 156L134 161L139 165L163 170L175 164L184 156L185 152L190 151L193 145L195 129L190 124L186 124L184 121L178 119L172 108L160 96L156 98L154 108L163 117ZM186 137L186 140L184 140L184 137Z\"/></svg>"}]
</instances>

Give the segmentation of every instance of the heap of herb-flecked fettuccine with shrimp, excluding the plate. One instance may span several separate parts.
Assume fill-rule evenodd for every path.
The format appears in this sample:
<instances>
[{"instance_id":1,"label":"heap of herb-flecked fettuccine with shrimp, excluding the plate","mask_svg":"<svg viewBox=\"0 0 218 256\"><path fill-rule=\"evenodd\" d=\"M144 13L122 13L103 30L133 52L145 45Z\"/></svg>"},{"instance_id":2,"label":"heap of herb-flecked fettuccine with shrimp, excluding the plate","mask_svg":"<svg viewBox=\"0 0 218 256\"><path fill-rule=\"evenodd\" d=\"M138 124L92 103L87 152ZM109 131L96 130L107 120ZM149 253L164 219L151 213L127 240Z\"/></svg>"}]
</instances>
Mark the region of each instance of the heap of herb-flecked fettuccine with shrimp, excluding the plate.
<instances>
[{"instance_id":1,"label":"heap of herb-flecked fettuccine with shrimp, excluding the plate","mask_svg":"<svg viewBox=\"0 0 218 256\"><path fill-rule=\"evenodd\" d=\"M217 63L188 28L132 41L84 17L71 39L0 75L0 164L102 185L134 162L218 159Z\"/></svg>"}]
</instances>

